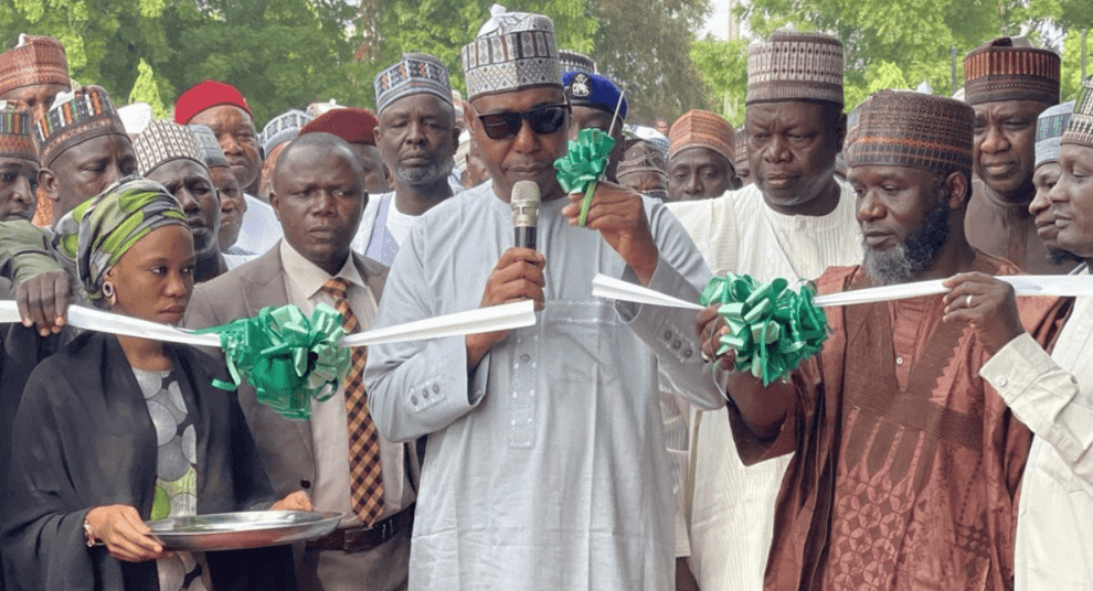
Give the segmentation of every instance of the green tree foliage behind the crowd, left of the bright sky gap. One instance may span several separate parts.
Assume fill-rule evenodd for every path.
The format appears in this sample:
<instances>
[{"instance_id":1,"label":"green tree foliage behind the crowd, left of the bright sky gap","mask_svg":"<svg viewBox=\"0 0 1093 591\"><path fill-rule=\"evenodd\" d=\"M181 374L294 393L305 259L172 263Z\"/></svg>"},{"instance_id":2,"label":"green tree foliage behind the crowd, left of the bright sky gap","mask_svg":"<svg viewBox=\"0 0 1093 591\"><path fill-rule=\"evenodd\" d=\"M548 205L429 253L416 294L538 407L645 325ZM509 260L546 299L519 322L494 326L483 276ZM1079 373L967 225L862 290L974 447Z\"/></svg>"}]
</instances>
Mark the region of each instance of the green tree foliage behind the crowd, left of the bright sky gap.
<instances>
[{"instance_id":1,"label":"green tree foliage behind the crowd, left of the bright sky gap","mask_svg":"<svg viewBox=\"0 0 1093 591\"><path fill-rule=\"evenodd\" d=\"M623 82L632 112L677 116L705 95L690 31L708 0L520 0L510 10L554 20L559 46L591 54ZM45 34L65 45L72 76L168 109L214 78L237 86L256 122L335 98L374 106L372 78L406 52L432 53L463 88L459 49L491 0L2 0L0 41ZM144 64L144 65L141 65ZM140 77L140 87L135 85ZM157 107L158 108L158 107Z\"/></svg>"}]
</instances>

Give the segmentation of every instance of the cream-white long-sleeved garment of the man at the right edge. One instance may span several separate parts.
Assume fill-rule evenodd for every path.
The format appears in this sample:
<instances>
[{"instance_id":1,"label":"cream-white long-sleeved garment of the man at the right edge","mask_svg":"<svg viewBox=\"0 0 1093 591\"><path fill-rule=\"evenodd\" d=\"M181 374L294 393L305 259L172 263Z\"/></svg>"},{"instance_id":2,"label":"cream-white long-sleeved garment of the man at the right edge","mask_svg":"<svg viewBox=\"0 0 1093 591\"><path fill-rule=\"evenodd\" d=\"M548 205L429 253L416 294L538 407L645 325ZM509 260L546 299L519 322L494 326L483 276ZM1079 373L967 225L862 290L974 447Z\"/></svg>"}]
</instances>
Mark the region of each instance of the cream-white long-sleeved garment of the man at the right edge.
<instances>
[{"instance_id":1,"label":"cream-white long-sleeved garment of the man at the right edge","mask_svg":"<svg viewBox=\"0 0 1093 591\"><path fill-rule=\"evenodd\" d=\"M1093 298L1075 300L1050 356L1022 334L979 375L1036 433L1018 504L1016 589L1093 590Z\"/></svg>"}]
</instances>

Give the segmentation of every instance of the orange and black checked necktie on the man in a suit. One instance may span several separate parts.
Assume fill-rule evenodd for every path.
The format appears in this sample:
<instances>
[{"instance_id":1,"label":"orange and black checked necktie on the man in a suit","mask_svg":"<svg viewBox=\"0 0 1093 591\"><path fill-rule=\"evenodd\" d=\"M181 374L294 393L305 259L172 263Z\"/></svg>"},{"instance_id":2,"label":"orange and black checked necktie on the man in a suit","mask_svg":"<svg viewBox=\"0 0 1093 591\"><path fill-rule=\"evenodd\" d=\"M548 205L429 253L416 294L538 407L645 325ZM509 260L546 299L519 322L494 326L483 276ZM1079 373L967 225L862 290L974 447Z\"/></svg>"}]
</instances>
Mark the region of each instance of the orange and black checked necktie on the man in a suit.
<instances>
[{"instance_id":1,"label":"orange and black checked necktie on the man in a suit","mask_svg":"<svg viewBox=\"0 0 1093 591\"><path fill-rule=\"evenodd\" d=\"M349 308L349 282L340 277L322 286L335 309L341 312L346 334L359 332L361 323ZM353 347L352 367L346 376L346 418L349 423L349 493L353 513L364 525L372 525L383 511L383 480L380 466L380 438L368 411L364 393L365 347Z\"/></svg>"}]
</instances>

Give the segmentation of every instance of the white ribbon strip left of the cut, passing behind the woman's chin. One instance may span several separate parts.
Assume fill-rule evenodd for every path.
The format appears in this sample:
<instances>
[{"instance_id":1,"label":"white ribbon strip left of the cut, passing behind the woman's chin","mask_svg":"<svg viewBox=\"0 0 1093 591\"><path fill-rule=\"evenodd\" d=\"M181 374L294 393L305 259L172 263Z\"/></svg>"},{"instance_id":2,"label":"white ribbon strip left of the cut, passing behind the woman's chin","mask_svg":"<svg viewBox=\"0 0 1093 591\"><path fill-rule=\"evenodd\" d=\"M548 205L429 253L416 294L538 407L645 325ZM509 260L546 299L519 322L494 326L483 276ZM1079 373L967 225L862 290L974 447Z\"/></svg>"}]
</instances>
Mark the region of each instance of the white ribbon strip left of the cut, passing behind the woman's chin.
<instances>
[{"instance_id":1,"label":"white ribbon strip left of the cut, passing behind the woman's chin","mask_svg":"<svg viewBox=\"0 0 1093 591\"><path fill-rule=\"evenodd\" d=\"M14 301L0 301L0 324L22 322ZM193 331L176 329L147 320L104 312L93 308L73 305L68 308L68 324L88 331L108 332L125 336L137 336L181 343L184 345L220 347L217 334L193 334ZM506 303L478 310L468 310L415 322L407 322L386 329L376 329L342 337L347 347L399 343L420 339L464 336L484 332L507 331L535 324L535 304L531 300Z\"/></svg>"}]
</instances>

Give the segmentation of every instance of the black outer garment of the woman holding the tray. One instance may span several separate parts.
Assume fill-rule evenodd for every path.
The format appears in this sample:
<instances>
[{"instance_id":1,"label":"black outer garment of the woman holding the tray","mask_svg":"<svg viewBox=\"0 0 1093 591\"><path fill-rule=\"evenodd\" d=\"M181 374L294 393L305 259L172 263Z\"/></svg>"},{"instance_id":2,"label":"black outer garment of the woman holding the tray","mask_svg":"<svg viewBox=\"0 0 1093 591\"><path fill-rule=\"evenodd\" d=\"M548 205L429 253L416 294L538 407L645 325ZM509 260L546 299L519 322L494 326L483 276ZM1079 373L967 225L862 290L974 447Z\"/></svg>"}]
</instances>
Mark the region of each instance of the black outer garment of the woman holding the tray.
<instances>
[{"instance_id":1,"label":"black outer garment of the woman holding the tray","mask_svg":"<svg viewBox=\"0 0 1093 591\"><path fill-rule=\"evenodd\" d=\"M213 388L220 365L167 345L197 420L198 513L262 507L273 488L234 393ZM156 562L87 548L87 511L124 504L148 518L156 432L114 335L85 333L34 369L15 415L2 509L3 556L17 589L156 590ZM208 552L216 591L296 589L291 549Z\"/></svg>"}]
</instances>

